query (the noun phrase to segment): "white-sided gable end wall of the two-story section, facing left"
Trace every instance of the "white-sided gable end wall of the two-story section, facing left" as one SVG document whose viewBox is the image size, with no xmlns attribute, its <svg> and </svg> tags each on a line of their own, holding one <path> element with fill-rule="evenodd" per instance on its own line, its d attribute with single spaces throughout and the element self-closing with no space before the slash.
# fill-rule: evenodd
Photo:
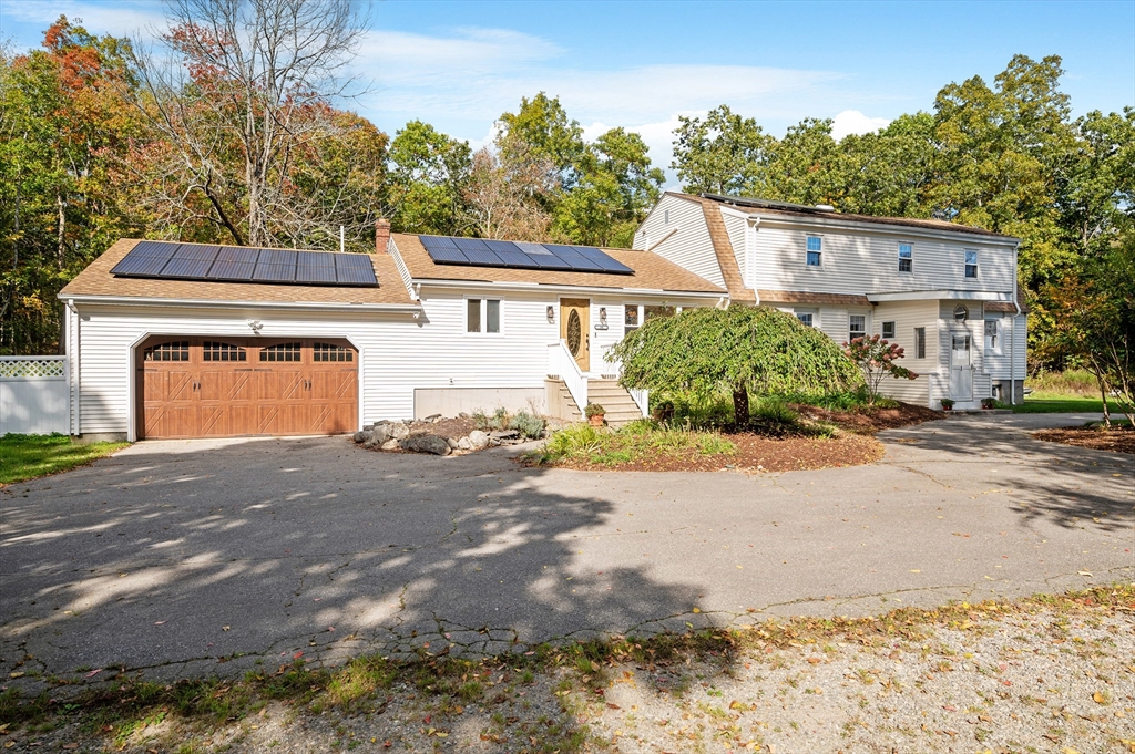
<svg viewBox="0 0 1135 754">
<path fill-rule="evenodd" d="M 670 212 L 670 223 L 665 222 L 666 212 Z M 647 248 L 648 242 L 656 244 L 674 228 L 678 231 L 655 246 L 654 253 L 724 288 L 725 279 L 713 251 L 705 213 L 696 202 L 663 196 L 634 232 L 634 248 Z"/>
</svg>

